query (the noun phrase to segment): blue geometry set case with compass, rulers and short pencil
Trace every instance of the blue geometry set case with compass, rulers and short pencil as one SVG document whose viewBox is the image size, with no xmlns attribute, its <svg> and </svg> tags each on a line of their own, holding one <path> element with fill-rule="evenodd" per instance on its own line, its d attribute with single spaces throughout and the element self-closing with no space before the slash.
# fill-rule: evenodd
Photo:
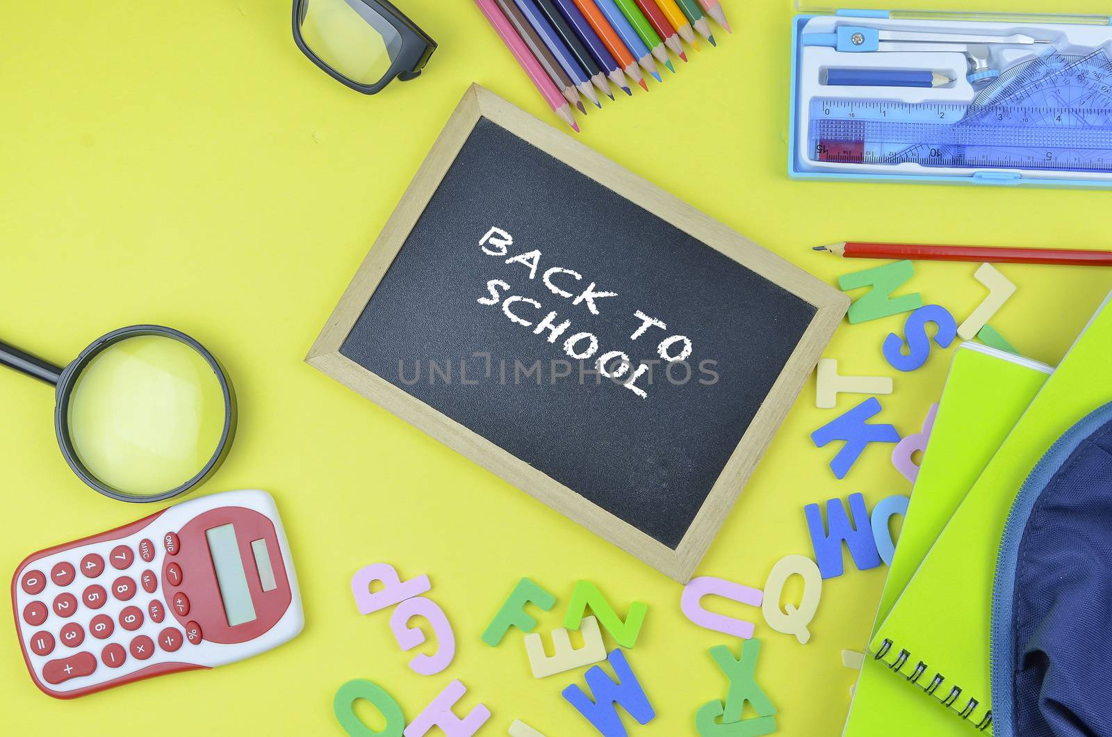
<svg viewBox="0 0 1112 737">
<path fill-rule="evenodd" d="M 798 179 L 1112 187 L 1106 16 L 795 17 Z"/>
</svg>

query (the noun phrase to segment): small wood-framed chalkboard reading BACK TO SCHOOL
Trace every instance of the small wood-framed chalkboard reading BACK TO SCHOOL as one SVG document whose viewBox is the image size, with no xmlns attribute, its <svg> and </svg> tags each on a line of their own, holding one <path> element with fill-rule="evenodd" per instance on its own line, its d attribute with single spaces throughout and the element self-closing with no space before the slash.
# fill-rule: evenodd
<svg viewBox="0 0 1112 737">
<path fill-rule="evenodd" d="M 847 307 L 473 86 L 307 361 L 686 581 Z"/>
</svg>

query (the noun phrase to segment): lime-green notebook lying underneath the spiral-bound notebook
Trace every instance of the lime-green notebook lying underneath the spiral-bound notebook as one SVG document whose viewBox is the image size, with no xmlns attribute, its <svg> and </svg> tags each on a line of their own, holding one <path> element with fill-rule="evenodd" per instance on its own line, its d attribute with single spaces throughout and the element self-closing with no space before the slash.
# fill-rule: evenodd
<svg viewBox="0 0 1112 737">
<path fill-rule="evenodd" d="M 874 633 L 1051 371 L 980 343 L 957 346 L 881 594 Z M 936 737 L 963 729 L 900 680 L 885 664 L 866 657 L 843 737 Z"/>
</svg>

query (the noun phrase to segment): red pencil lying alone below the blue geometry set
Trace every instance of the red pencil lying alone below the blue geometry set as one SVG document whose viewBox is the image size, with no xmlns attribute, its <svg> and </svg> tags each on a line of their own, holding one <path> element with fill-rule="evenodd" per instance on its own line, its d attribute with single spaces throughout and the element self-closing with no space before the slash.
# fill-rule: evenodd
<svg viewBox="0 0 1112 737">
<path fill-rule="evenodd" d="M 1061 248 L 1012 248 L 1007 246 L 920 246 L 909 243 L 836 243 L 815 246 L 843 258 L 903 261 L 969 261 L 993 264 L 1058 264 L 1062 266 L 1112 266 L 1112 250 Z"/>
</svg>

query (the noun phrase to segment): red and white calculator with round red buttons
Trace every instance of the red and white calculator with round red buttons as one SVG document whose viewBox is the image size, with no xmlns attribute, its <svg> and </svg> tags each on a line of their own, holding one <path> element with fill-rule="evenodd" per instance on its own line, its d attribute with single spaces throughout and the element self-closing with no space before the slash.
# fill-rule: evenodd
<svg viewBox="0 0 1112 737">
<path fill-rule="evenodd" d="M 305 625 L 278 509 L 258 490 L 32 553 L 11 597 L 31 679 L 56 698 L 242 660 Z"/>
</svg>

